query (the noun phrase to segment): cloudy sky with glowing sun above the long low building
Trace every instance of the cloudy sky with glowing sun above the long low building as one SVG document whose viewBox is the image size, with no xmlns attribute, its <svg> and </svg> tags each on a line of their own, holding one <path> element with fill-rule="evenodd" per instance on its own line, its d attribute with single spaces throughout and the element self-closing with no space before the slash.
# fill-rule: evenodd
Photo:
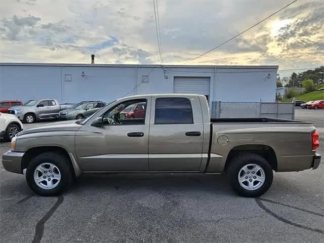
<svg viewBox="0 0 324 243">
<path fill-rule="evenodd" d="M 0 0 L 0 62 L 160 64 L 152 0 Z M 158 0 L 165 64 L 184 64 L 292 0 Z M 324 64 L 324 1 L 298 0 L 188 64 Z"/>
</svg>

